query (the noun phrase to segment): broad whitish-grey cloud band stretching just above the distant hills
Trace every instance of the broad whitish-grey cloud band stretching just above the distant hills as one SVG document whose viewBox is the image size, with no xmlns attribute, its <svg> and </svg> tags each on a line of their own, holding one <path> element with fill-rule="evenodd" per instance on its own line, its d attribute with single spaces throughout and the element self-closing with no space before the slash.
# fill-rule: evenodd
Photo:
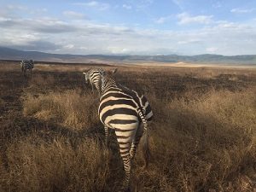
<svg viewBox="0 0 256 192">
<path fill-rule="evenodd" d="M 0 18 L 0 45 L 51 53 L 167 55 L 255 54 L 255 21 L 212 21 L 194 30 L 154 30 L 94 23 Z"/>
</svg>

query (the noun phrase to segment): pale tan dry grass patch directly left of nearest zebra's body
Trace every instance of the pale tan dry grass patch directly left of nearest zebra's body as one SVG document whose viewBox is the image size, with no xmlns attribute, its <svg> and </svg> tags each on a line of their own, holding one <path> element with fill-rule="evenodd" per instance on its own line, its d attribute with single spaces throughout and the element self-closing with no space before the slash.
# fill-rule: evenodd
<svg viewBox="0 0 256 192">
<path fill-rule="evenodd" d="M 93 95 L 83 95 L 81 90 L 49 92 L 23 97 L 23 113 L 44 121 L 53 120 L 73 130 L 87 129 L 96 125 L 97 102 Z"/>
</svg>

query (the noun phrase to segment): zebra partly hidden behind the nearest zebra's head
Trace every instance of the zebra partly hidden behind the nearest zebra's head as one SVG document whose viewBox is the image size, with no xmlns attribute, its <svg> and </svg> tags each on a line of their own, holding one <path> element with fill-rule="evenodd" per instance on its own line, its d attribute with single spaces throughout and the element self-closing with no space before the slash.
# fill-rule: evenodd
<svg viewBox="0 0 256 192">
<path fill-rule="evenodd" d="M 93 92 L 94 86 L 96 90 L 100 90 L 99 88 L 99 79 L 101 75 L 105 75 L 105 71 L 102 68 L 90 69 L 88 72 L 84 72 L 85 83 L 90 83 L 91 90 Z"/>
</svg>

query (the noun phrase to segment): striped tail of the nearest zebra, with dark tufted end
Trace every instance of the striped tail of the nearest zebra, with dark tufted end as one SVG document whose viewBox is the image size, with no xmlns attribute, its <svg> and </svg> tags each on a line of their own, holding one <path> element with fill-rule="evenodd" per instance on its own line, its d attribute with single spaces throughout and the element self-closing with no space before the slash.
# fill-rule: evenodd
<svg viewBox="0 0 256 192">
<path fill-rule="evenodd" d="M 141 139 L 141 142 L 143 144 L 143 158 L 144 158 L 143 168 L 146 169 L 148 167 L 148 160 L 151 156 L 149 145 L 148 145 L 148 122 L 142 110 L 139 110 L 139 116 L 143 121 L 143 137 Z"/>
</svg>

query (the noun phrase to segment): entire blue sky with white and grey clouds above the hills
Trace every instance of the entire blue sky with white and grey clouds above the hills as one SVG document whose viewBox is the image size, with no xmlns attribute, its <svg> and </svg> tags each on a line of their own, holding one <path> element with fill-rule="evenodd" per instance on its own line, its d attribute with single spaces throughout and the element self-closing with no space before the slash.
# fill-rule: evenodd
<svg viewBox="0 0 256 192">
<path fill-rule="evenodd" d="M 0 46 L 105 55 L 256 54 L 254 0 L 0 0 Z"/>
</svg>

